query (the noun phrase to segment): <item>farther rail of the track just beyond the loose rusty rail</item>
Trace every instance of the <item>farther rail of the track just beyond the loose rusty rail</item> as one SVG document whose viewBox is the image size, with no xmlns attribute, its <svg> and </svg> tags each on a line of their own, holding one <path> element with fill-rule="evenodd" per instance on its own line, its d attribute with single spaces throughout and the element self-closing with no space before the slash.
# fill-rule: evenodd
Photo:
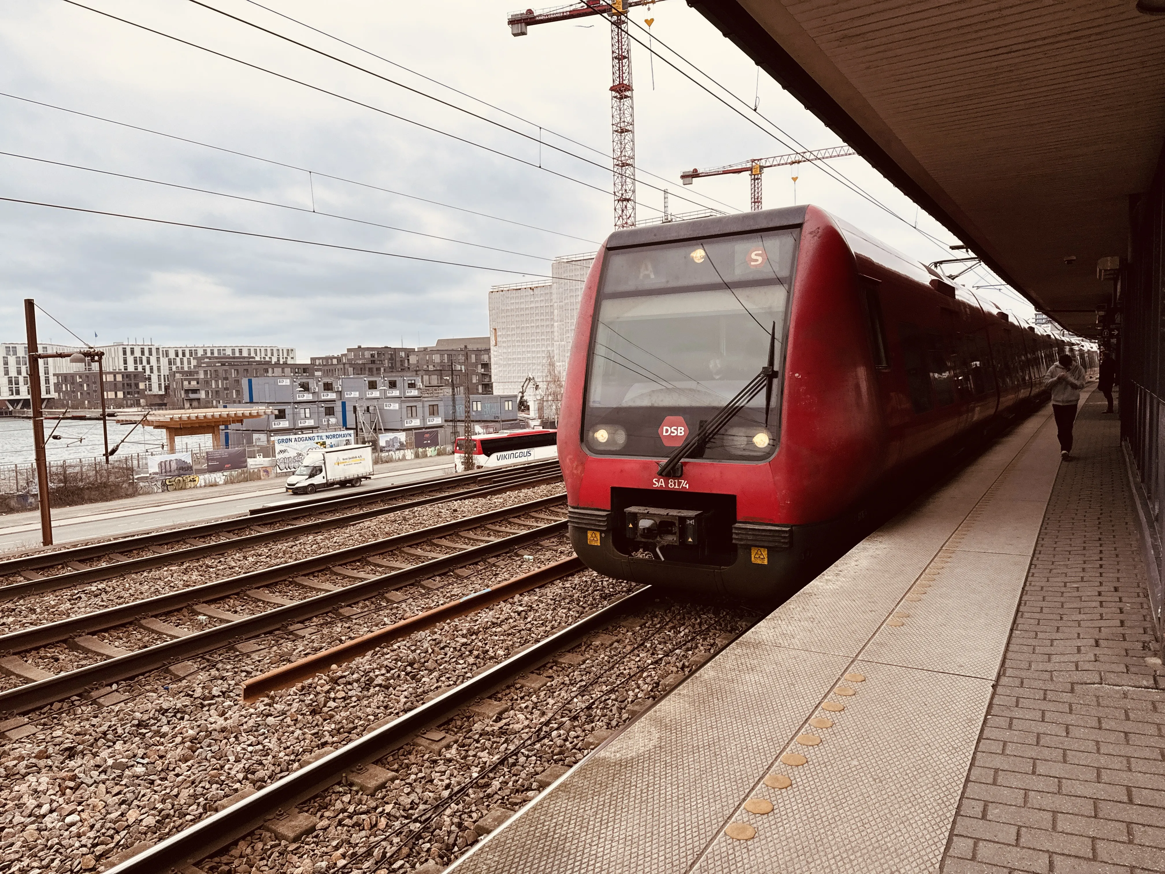
<svg viewBox="0 0 1165 874">
<path fill-rule="evenodd" d="M 82 634 L 89 634 L 91 632 L 99 632 L 105 628 L 126 625 L 127 622 L 133 622 L 134 620 L 142 619 L 144 616 L 156 616 L 161 613 L 182 609 L 183 607 L 189 607 L 191 604 L 202 604 L 204 601 L 225 598 L 250 588 L 257 588 L 260 586 L 270 585 L 271 583 L 289 579 L 290 577 L 313 573 L 316 571 L 334 568 L 337 565 L 344 565 L 348 562 L 363 558 L 365 556 L 379 555 L 381 552 L 388 552 L 402 547 L 411 547 L 414 543 L 423 543 L 425 541 L 431 541 L 435 537 L 443 537 L 445 535 L 457 534 L 458 531 L 469 528 L 479 528 L 480 526 L 502 519 L 511 519 L 527 513 L 534 513 L 545 507 L 562 503 L 563 500 L 564 495 L 562 494 L 550 495 L 549 498 L 539 498 L 535 501 L 520 503 L 517 507 L 503 507 L 502 509 L 489 510 L 488 513 L 481 513 L 476 516 L 456 519 L 452 522 L 445 522 L 439 526 L 419 528 L 415 531 L 405 531 L 404 534 L 395 534 L 391 537 L 382 537 L 381 540 L 372 541 L 369 543 L 360 543 L 355 547 L 345 547 L 344 549 L 338 549 L 333 552 L 325 552 L 324 555 L 311 556 L 310 558 L 299 558 L 294 562 L 277 564 L 274 568 L 248 571 L 247 573 L 226 577 L 225 579 L 214 580 L 213 583 L 204 583 L 200 586 L 179 588 L 174 592 L 167 592 L 165 594 L 157 594 L 153 598 L 143 598 L 137 601 L 130 601 L 129 604 L 122 604 L 115 607 L 107 607 L 106 609 L 96 611 L 93 613 L 70 616 L 69 619 L 59 619 L 56 622 L 38 625 L 19 632 L 9 632 L 8 634 L 0 635 L 0 653 L 21 653 L 27 649 L 34 649 L 36 647 L 48 646 L 49 643 L 69 640 L 70 637 L 76 637 Z M 566 524 L 566 522 L 556 522 L 552 523 L 552 526 L 553 524 Z M 501 543 L 502 541 L 499 540 L 494 542 Z M 490 544 L 488 543 L 482 544 L 482 548 L 489 545 Z M 453 552 L 452 555 L 467 555 L 472 552 L 473 549 Z M 431 564 L 433 564 L 433 562 L 426 562 L 414 566 L 424 568 Z M 376 579 L 380 579 L 380 577 Z M 360 585 L 361 584 L 359 583 L 354 583 L 337 591 L 348 592 L 358 588 Z"/>
</svg>

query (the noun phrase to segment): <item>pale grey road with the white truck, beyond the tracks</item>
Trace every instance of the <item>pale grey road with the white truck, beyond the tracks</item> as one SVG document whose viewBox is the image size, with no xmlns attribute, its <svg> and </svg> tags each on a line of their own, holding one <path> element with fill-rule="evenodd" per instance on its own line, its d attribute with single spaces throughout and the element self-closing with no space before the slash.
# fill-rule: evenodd
<svg viewBox="0 0 1165 874">
<path fill-rule="evenodd" d="M 336 493 L 351 495 L 368 488 L 418 482 L 452 473 L 453 461 L 446 461 L 440 457 L 395 461 L 377 465 L 377 472 L 367 482 L 355 488 L 336 489 Z M 193 488 L 189 492 L 137 495 L 120 501 L 54 510 L 52 537 L 57 544 L 120 537 L 191 522 L 238 516 L 266 503 L 296 503 L 302 500 L 311 500 L 311 496 L 287 493 L 282 479 Z M 0 555 L 35 549 L 40 545 L 41 523 L 40 515 L 35 510 L 0 515 Z"/>
</svg>

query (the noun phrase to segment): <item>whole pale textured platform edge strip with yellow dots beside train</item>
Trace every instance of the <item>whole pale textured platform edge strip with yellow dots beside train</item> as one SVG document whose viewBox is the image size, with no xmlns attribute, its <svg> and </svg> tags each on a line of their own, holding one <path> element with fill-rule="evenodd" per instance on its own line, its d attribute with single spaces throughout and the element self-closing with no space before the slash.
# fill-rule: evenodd
<svg viewBox="0 0 1165 874">
<path fill-rule="evenodd" d="M 1031 459 L 1059 460 L 1048 423 L 1024 423 L 859 544 L 461 859 L 458 874 L 937 871 L 990 697 L 980 675 L 994 678 L 1026 569 L 1023 541 L 998 528 L 1016 520 L 996 507 L 1026 503 L 1038 531 L 1054 473 Z M 1017 493 L 1017 474 L 1035 486 Z M 967 549 L 976 535 L 982 552 Z M 982 628 L 951 620 L 984 597 L 967 585 L 980 573 L 1002 586 L 990 620 L 1002 627 L 972 641 Z M 867 644 L 880 658 L 854 662 Z M 951 654 L 963 648 L 956 663 Z M 867 675 L 860 686 L 839 681 L 855 672 Z M 825 718 L 828 728 L 809 723 Z M 785 753 L 791 764 L 769 767 Z M 792 785 L 764 787 L 770 771 Z M 750 798 L 774 811 L 743 809 Z"/>
</svg>

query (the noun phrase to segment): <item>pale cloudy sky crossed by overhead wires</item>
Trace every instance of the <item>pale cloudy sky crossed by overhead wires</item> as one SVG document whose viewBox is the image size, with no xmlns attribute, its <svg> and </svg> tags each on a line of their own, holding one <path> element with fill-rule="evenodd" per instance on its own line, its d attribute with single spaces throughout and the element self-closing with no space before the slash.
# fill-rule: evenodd
<svg viewBox="0 0 1165 874">
<path fill-rule="evenodd" d="M 549 259 L 591 251 L 610 231 L 601 19 L 514 38 L 511 3 L 499 0 L 82 2 L 91 8 L 0 6 L 0 197 L 464 266 L 5 200 L 0 340 L 23 337 L 24 297 L 98 343 L 277 344 L 302 360 L 356 344 L 480 336 L 489 286 L 548 274 Z M 640 218 L 658 214 L 664 188 L 672 212 L 748 209 L 744 176 L 685 188 L 684 169 L 784 154 L 788 142 L 841 145 L 683 0 L 633 17 L 654 20 L 657 52 L 633 49 Z M 912 225 L 955 242 L 949 233 L 862 158 L 833 167 L 899 218 L 811 165 L 799 169 L 797 202 L 920 261 L 949 256 Z M 793 202 L 790 176 L 765 174 L 765 206 Z M 967 279 L 996 281 L 986 270 Z M 1014 296 L 997 299 L 1031 312 Z M 41 337 L 71 339 L 47 320 Z"/>
</svg>

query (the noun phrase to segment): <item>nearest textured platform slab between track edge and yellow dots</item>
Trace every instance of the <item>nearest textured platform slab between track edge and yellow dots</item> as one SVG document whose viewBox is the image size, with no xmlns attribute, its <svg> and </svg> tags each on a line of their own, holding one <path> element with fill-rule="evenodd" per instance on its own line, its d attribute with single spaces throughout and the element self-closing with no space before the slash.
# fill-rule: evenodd
<svg viewBox="0 0 1165 874">
<path fill-rule="evenodd" d="M 849 660 L 737 641 L 458 871 L 683 872 Z M 779 690 L 779 695 L 775 695 Z M 693 729 L 698 726 L 698 731 Z M 675 745 L 682 743 L 682 761 Z M 501 840 L 499 840 L 501 838 Z"/>
</svg>

